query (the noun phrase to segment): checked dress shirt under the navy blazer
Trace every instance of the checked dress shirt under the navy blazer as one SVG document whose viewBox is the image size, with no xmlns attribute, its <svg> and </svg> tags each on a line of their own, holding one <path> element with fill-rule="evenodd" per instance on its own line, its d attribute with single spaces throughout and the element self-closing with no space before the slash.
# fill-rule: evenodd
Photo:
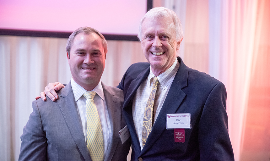
<svg viewBox="0 0 270 161">
<path fill-rule="evenodd" d="M 176 75 L 176 72 L 178 71 L 179 66 L 180 63 L 176 59 L 174 64 L 172 64 L 172 66 L 170 66 L 169 69 L 167 69 L 164 73 L 157 76 L 159 83 L 154 101 L 154 112 L 153 112 L 154 123 L 159 115 L 159 111 L 161 110 L 162 105 L 166 99 L 166 96 L 170 90 L 170 86 Z M 152 69 L 150 67 L 148 79 L 142 82 L 142 84 L 137 89 L 132 104 L 132 116 L 137 136 L 140 141 L 141 149 L 143 149 L 142 128 L 143 128 L 144 109 L 146 107 L 146 103 L 152 90 L 154 76 L 155 75 L 153 74 Z"/>
</svg>

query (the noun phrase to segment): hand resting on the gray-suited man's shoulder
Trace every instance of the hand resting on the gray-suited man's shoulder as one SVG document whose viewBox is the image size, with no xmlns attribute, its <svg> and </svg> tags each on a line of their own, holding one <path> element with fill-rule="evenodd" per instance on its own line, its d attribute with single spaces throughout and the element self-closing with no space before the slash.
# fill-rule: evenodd
<svg viewBox="0 0 270 161">
<path fill-rule="evenodd" d="M 44 92 L 40 93 L 40 96 L 35 97 L 35 99 L 41 99 L 43 101 L 46 100 L 46 95 L 52 100 L 55 101 L 58 98 L 58 95 L 55 91 L 59 91 L 60 89 L 64 88 L 65 86 L 59 82 L 49 83 L 48 86 L 45 87 Z"/>
</svg>

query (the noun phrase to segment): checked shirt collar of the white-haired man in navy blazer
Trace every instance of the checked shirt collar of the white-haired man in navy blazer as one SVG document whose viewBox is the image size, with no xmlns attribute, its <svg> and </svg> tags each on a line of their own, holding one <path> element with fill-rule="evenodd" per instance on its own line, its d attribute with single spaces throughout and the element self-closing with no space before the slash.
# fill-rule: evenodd
<svg viewBox="0 0 270 161">
<path fill-rule="evenodd" d="M 180 63 L 178 62 L 177 58 L 176 60 L 174 61 L 174 63 L 170 66 L 169 69 L 167 69 L 164 73 L 161 73 L 159 76 L 157 76 L 158 80 L 159 80 L 159 84 L 161 85 L 161 87 L 163 88 L 163 90 L 166 89 L 166 87 L 170 84 L 170 78 L 171 77 L 175 77 L 176 75 L 176 72 L 178 70 L 180 66 Z M 147 82 L 150 83 L 149 86 L 151 86 L 151 83 L 153 82 L 153 77 L 155 75 L 153 74 L 152 72 L 152 69 L 151 69 L 151 66 L 150 66 L 150 73 L 148 75 L 148 80 Z"/>
</svg>

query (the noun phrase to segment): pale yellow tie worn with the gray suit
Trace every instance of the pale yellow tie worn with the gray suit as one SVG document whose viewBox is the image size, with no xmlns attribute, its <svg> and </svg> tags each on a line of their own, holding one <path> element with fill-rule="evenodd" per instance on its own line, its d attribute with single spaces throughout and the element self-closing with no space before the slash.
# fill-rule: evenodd
<svg viewBox="0 0 270 161">
<path fill-rule="evenodd" d="M 103 133 L 97 107 L 94 103 L 96 92 L 87 91 L 84 93 L 86 100 L 87 117 L 87 148 L 92 161 L 104 159 Z"/>
</svg>

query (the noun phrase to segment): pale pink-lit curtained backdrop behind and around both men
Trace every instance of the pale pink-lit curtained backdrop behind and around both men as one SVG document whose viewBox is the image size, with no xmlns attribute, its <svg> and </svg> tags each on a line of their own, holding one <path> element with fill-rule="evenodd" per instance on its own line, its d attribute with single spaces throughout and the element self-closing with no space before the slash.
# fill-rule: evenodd
<svg viewBox="0 0 270 161">
<path fill-rule="evenodd" d="M 180 17 L 184 39 L 178 55 L 185 64 L 225 84 L 235 160 L 269 160 L 270 1 L 154 0 L 153 5 Z M 1 160 L 18 160 L 19 137 L 34 98 L 49 82 L 70 80 L 66 41 L 0 36 Z M 146 61 L 137 41 L 108 40 L 108 50 L 101 79 L 110 86 L 118 84 L 130 64 Z"/>
</svg>

